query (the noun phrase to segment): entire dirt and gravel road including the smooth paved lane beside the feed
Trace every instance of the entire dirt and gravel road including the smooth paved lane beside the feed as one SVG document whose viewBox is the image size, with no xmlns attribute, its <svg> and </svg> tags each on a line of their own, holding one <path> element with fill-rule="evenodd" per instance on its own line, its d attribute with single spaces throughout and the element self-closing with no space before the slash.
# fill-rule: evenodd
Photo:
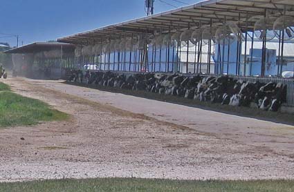
<svg viewBox="0 0 294 192">
<path fill-rule="evenodd" d="M 0 130 L 0 181 L 294 179 L 293 126 L 59 81 L 17 78 L 6 83 L 72 118 Z"/>
</svg>

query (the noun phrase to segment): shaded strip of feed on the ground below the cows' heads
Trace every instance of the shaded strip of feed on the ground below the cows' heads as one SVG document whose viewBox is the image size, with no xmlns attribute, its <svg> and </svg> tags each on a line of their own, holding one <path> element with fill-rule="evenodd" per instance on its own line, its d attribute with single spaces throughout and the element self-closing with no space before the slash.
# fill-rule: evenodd
<svg viewBox="0 0 294 192">
<path fill-rule="evenodd" d="M 294 124 L 293 114 L 290 113 L 281 113 L 281 112 L 272 112 L 272 111 L 262 111 L 255 108 L 249 107 L 234 107 L 221 104 L 212 104 L 210 102 L 200 102 L 199 100 L 194 99 L 185 99 L 183 97 L 176 97 L 172 95 L 160 95 L 158 93 L 150 93 L 145 90 L 125 90 L 120 88 L 111 88 L 106 86 L 98 85 L 85 85 L 79 83 L 66 82 L 66 84 L 72 84 L 77 86 L 85 86 L 89 88 L 96 88 L 99 90 L 109 91 L 113 93 L 122 93 L 125 95 L 133 95 L 136 97 L 143 97 L 147 99 L 155 99 L 162 102 L 170 102 L 173 104 L 181 104 L 185 106 L 192 106 L 196 108 L 203 108 L 205 110 L 217 111 L 221 113 L 228 113 L 232 115 L 239 115 L 244 117 L 252 117 L 256 119 L 263 119 L 270 122 L 281 122 L 286 124 Z"/>
</svg>

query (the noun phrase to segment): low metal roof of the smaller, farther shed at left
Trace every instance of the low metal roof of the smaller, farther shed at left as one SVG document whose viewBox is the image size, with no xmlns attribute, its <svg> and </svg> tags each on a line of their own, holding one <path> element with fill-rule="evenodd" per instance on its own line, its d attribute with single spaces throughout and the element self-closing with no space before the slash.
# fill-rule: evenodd
<svg viewBox="0 0 294 192">
<path fill-rule="evenodd" d="M 12 48 L 10 50 L 6 50 L 5 53 L 33 53 L 46 50 L 60 49 L 61 47 L 64 51 L 74 51 L 75 49 L 75 45 L 73 44 L 66 44 L 60 42 L 35 42 L 33 44 L 28 44 L 25 46 L 21 46 L 19 48 Z"/>
</svg>

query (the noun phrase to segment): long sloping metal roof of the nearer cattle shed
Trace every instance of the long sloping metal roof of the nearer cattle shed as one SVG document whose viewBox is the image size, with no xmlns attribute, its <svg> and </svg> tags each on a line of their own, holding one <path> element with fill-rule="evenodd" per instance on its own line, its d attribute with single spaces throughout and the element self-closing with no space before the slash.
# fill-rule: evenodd
<svg viewBox="0 0 294 192">
<path fill-rule="evenodd" d="M 95 30 L 77 33 L 57 39 L 60 42 L 73 44 L 93 44 L 107 39 L 131 37 L 134 34 L 168 32 L 197 28 L 210 23 L 224 23 L 235 21 L 241 30 L 252 30 L 253 23 L 247 23 L 254 16 L 294 15 L 293 0 L 208 0 L 185 6 L 175 10 L 162 12 L 156 15 L 134 19 L 122 23 L 105 26 Z"/>
</svg>

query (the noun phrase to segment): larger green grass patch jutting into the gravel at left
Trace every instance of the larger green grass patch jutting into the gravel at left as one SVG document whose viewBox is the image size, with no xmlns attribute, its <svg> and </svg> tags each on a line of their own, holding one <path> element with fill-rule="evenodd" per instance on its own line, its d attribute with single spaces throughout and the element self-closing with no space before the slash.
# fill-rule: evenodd
<svg viewBox="0 0 294 192">
<path fill-rule="evenodd" d="M 68 115 L 50 108 L 37 99 L 22 97 L 12 92 L 0 92 L 0 128 L 29 126 L 42 121 L 65 120 Z"/>
</svg>

